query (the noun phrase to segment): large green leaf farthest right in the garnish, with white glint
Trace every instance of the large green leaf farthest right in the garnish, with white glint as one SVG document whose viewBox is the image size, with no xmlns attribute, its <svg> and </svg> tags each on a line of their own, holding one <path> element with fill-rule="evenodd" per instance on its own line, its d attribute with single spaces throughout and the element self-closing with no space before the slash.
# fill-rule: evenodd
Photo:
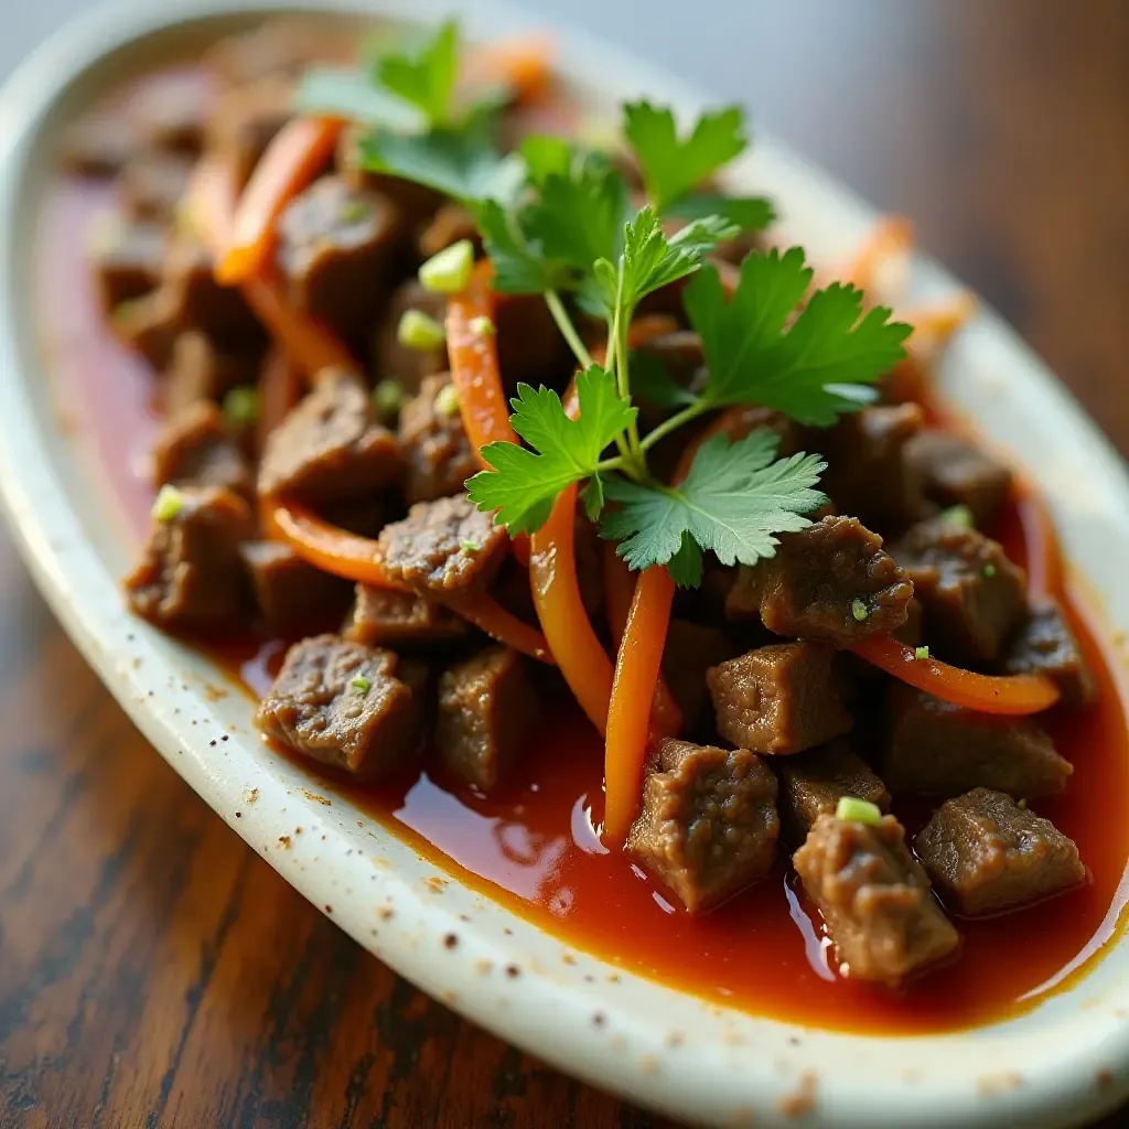
<svg viewBox="0 0 1129 1129">
<path fill-rule="evenodd" d="M 761 404 L 829 427 L 873 400 L 865 386 L 905 356 L 910 326 L 881 306 L 864 315 L 861 291 L 835 282 L 812 295 L 789 327 L 811 281 L 804 252 L 793 247 L 749 255 L 732 300 L 712 268 L 690 282 L 683 303 L 709 365 L 708 405 Z"/>
</svg>

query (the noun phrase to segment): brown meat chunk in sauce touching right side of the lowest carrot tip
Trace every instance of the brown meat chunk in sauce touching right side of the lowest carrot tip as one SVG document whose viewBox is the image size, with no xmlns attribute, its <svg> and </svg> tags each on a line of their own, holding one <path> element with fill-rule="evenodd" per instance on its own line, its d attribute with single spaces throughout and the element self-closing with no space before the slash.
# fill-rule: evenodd
<svg viewBox="0 0 1129 1129">
<path fill-rule="evenodd" d="M 691 913 L 704 913 L 768 874 L 776 798 L 776 777 L 747 749 L 664 741 L 627 852 Z"/>
</svg>

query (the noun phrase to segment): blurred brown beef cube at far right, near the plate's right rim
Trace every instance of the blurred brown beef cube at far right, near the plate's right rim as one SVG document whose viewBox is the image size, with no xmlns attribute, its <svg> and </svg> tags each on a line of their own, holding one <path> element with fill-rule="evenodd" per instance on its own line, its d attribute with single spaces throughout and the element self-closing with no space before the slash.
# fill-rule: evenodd
<svg viewBox="0 0 1129 1129">
<path fill-rule="evenodd" d="M 990 528 L 1012 489 L 1012 472 L 975 444 L 926 430 L 905 445 L 905 457 L 926 498 L 938 506 L 968 506 L 979 528 Z"/>
</svg>

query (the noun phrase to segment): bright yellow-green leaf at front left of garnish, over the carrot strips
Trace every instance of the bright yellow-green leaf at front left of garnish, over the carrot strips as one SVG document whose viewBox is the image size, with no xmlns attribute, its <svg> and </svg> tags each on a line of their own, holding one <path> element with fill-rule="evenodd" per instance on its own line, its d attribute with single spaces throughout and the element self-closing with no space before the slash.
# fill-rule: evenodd
<svg viewBox="0 0 1129 1129">
<path fill-rule="evenodd" d="M 482 456 L 491 470 L 466 483 L 471 501 L 479 509 L 498 510 L 495 520 L 511 532 L 540 530 L 561 490 L 592 476 L 604 448 L 634 420 L 636 409 L 620 396 L 615 377 L 598 365 L 577 376 L 576 388 L 580 414 L 574 420 L 555 392 L 519 384 L 510 422 L 534 450 L 487 444 Z M 595 508 L 597 499 L 602 504 L 601 487 L 589 487 L 586 505 Z"/>
</svg>

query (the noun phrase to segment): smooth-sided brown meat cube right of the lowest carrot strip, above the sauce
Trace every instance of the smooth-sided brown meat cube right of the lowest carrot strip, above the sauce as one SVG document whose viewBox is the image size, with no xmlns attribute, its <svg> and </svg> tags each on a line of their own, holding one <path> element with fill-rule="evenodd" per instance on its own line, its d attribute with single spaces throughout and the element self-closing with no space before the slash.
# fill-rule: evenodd
<svg viewBox="0 0 1129 1129">
<path fill-rule="evenodd" d="M 816 642 L 758 647 L 706 675 L 717 732 L 735 745 L 773 755 L 814 749 L 849 733 L 846 680 L 832 648 Z"/>
</svg>

